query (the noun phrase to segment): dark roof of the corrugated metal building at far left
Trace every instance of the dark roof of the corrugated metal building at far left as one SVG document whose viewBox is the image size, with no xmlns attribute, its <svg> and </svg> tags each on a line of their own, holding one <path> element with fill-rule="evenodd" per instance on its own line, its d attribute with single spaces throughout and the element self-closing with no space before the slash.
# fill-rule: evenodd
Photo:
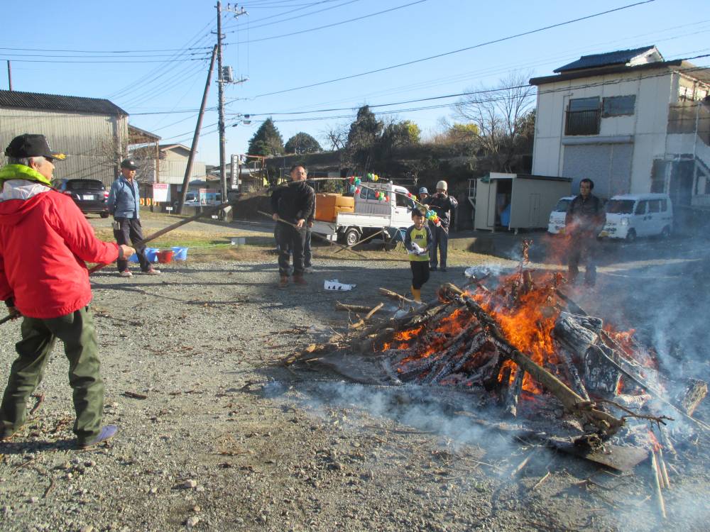
<svg viewBox="0 0 710 532">
<path fill-rule="evenodd" d="M 45 111 L 71 111 L 88 114 L 128 116 L 116 104 L 101 98 L 84 96 L 61 96 L 40 92 L 0 91 L 0 108 L 42 109 Z"/>
</svg>

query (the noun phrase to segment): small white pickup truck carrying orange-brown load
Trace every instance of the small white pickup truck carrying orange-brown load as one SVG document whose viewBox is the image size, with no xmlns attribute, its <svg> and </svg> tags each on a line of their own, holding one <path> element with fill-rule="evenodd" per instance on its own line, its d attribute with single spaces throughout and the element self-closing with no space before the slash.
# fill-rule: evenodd
<svg viewBox="0 0 710 532">
<path fill-rule="evenodd" d="M 376 192 L 384 192 L 386 200 L 377 199 Z M 398 194 L 396 194 L 398 193 Z M 313 221 L 314 233 L 324 235 L 328 240 L 338 240 L 345 245 L 353 245 L 362 238 L 367 238 L 385 230 L 383 239 L 391 236 L 392 229 L 406 229 L 412 225 L 412 207 L 414 202 L 408 197 L 409 191 L 392 183 L 367 183 L 354 198 L 354 212 L 338 212 L 334 221 L 316 219 Z M 318 212 L 316 199 L 316 212 Z"/>
</svg>

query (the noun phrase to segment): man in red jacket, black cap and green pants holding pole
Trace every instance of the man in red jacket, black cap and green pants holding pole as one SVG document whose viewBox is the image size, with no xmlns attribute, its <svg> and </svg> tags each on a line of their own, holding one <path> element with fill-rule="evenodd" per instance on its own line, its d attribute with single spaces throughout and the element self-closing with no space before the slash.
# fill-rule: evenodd
<svg viewBox="0 0 710 532">
<path fill-rule="evenodd" d="M 85 262 L 113 262 L 133 248 L 98 240 L 70 196 L 50 187 L 54 161 L 66 156 L 53 152 L 44 135 L 13 138 L 5 155 L 10 164 L 0 169 L 0 300 L 24 319 L 0 405 L 0 440 L 25 423 L 26 401 L 59 338 L 69 359 L 74 433 L 79 447 L 87 448 L 118 429 L 101 424 L 104 384 Z"/>
</svg>

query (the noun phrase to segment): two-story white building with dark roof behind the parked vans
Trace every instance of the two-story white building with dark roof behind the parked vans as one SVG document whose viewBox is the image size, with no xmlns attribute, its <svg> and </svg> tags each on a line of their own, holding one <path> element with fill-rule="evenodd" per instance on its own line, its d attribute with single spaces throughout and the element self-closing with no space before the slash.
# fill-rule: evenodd
<svg viewBox="0 0 710 532">
<path fill-rule="evenodd" d="M 655 46 L 585 55 L 537 86 L 532 173 L 595 194 L 667 192 L 710 207 L 710 69 Z"/>
</svg>

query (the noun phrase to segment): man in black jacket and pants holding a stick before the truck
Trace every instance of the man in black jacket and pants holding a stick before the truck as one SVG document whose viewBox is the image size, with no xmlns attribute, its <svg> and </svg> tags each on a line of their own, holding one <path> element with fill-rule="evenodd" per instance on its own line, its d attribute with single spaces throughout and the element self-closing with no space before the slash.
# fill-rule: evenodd
<svg viewBox="0 0 710 532">
<path fill-rule="evenodd" d="M 303 278 L 303 248 L 306 223 L 315 209 L 315 192 L 305 183 L 306 169 L 300 165 L 291 168 L 293 182 L 278 187 L 271 194 L 271 209 L 276 221 L 278 242 L 278 286 L 288 286 L 289 254 L 293 253 L 293 282 L 307 284 Z M 293 224 L 293 225 L 291 225 Z"/>
</svg>

